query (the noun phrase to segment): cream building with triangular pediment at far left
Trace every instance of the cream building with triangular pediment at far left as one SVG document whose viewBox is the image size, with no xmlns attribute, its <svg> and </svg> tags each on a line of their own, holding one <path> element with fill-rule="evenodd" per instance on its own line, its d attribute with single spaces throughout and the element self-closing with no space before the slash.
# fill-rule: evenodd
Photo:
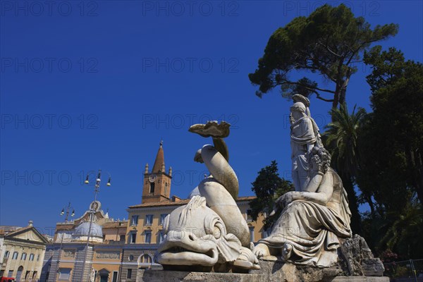
<svg viewBox="0 0 423 282">
<path fill-rule="evenodd" d="M 25 228 L 0 226 L 0 277 L 37 281 L 47 243 L 32 221 Z"/>
</svg>

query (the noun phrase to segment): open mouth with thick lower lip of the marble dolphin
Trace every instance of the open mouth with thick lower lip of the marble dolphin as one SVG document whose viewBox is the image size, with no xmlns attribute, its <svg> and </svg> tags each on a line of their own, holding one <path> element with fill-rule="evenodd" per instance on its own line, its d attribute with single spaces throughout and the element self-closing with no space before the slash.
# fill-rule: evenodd
<svg viewBox="0 0 423 282">
<path fill-rule="evenodd" d="M 197 252 L 185 247 L 170 247 L 159 252 L 157 262 L 168 265 L 202 265 L 213 266 L 216 264 L 219 254 L 216 247 L 212 247 L 206 252 Z"/>
</svg>

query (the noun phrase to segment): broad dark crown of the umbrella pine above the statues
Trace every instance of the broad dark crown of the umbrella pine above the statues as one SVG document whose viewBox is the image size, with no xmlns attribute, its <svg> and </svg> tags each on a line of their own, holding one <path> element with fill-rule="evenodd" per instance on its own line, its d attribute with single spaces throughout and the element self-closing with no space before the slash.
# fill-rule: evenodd
<svg viewBox="0 0 423 282">
<path fill-rule="evenodd" d="M 308 97 L 316 94 L 318 99 L 338 103 L 345 102 L 345 94 L 360 62 L 360 54 L 372 42 L 378 42 L 396 35 L 398 25 L 376 25 L 370 27 L 362 17 L 354 17 L 347 6 L 337 7 L 325 4 L 309 17 L 294 18 L 285 27 L 280 27 L 264 49 L 255 73 L 250 73 L 250 81 L 259 85 L 257 96 L 262 97 L 274 87 L 281 87 L 284 97 L 300 93 Z M 291 80 L 293 71 L 305 71 L 322 75 L 332 88 L 319 87 L 309 78 Z M 327 84 L 327 83 L 325 83 Z M 329 94 L 324 98 L 321 94 Z"/>
</svg>

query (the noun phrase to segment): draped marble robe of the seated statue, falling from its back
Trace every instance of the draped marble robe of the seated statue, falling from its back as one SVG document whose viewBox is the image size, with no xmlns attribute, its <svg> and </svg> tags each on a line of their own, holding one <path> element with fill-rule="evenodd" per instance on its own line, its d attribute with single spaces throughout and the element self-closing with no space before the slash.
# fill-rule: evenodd
<svg viewBox="0 0 423 282">
<path fill-rule="evenodd" d="M 341 178 L 331 168 L 326 173 L 333 181 L 333 194 L 326 206 L 304 200 L 291 202 L 283 209 L 269 237 L 258 243 L 272 248 L 290 243 L 293 246 L 290 260 L 295 264 L 324 267 L 337 261 L 338 237 L 352 235 L 351 212 Z"/>
</svg>

